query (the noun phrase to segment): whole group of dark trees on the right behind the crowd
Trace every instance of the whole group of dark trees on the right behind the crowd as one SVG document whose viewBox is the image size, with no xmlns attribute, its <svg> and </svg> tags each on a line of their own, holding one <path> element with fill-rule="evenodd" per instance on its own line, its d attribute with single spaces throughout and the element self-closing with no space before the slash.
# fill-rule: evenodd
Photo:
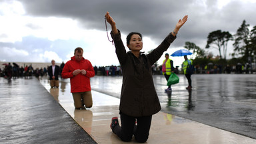
<svg viewBox="0 0 256 144">
<path fill-rule="evenodd" d="M 256 55 L 256 25 L 249 30 L 249 24 L 244 20 L 237 29 L 237 33 L 231 35 L 229 31 L 212 31 L 207 37 L 205 49 L 217 49 L 219 57 L 213 59 L 213 53 L 207 53 L 193 42 L 185 42 L 185 48 L 193 51 L 195 65 L 207 65 L 207 63 L 221 63 L 223 65 L 237 65 L 237 63 L 255 62 Z M 227 60 L 227 45 L 233 41 L 232 59 Z"/>
</svg>

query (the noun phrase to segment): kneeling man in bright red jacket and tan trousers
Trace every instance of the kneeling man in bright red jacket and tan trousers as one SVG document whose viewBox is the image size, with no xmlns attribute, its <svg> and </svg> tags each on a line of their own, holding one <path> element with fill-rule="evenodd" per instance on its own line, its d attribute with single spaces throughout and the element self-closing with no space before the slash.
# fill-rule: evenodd
<svg viewBox="0 0 256 144">
<path fill-rule="evenodd" d="M 75 55 L 67 61 L 61 73 L 64 79 L 70 78 L 75 109 L 85 109 L 85 107 L 93 106 L 90 77 L 94 77 L 94 75 L 95 72 L 91 62 L 83 58 L 83 49 L 77 47 Z"/>
</svg>

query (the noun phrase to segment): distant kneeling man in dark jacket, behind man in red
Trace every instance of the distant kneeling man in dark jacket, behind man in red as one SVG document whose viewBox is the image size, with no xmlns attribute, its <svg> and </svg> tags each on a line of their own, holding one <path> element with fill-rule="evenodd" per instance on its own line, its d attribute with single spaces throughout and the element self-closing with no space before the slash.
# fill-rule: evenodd
<svg viewBox="0 0 256 144">
<path fill-rule="evenodd" d="M 51 66 L 48 68 L 51 88 L 59 88 L 59 65 L 55 65 L 55 60 L 51 60 Z"/>
</svg>

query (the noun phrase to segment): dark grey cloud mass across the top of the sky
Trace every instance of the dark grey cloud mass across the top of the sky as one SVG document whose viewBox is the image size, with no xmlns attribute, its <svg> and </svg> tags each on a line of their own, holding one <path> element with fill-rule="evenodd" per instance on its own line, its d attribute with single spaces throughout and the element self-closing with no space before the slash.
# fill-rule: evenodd
<svg viewBox="0 0 256 144">
<path fill-rule="evenodd" d="M 235 33 L 245 19 L 254 26 L 256 20 L 255 3 L 246 5 L 234 0 L 221 9 L 217 1 L 181 0 L 181 1 L 84 1 L 84 0 L 22 0 L 27 15 L 40 17 L 70 17 L 77 19 L 87 29 L 105 30 L 104 15 L 109 11 L 122 33 L 139 31 L 144 37 L 151 37 L 157 43 L 173 31 L 178 19 L 189 15 L 187 23 L 179 31 L 178 39 L 173 43 L 183 47 L 185 41 L 191 41 L 205 47 L 207 35 L 221 29 Z M 111 28 L 108 25 L 109 29 Z"/>
</svg>

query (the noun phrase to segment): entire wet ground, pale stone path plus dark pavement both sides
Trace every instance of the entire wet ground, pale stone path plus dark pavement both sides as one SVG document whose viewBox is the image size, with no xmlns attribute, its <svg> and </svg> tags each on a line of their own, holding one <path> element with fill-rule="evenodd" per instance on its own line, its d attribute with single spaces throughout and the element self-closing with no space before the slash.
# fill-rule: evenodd
<svg viewBox="0 0 256 144">
<path fill-rule="evenodd" d="M 193 75 L 192 91 L 179 78 L 165 93 L 165 78 L 153 75 L 162 111 L 147 143 L 256 143 L 255 75 Z M 51 89 L 47 77 L 0 78 L 0 143 L 123 143 L 109 128 L 121 83 L 121 76 L 91 78 L 93 107 L 75 110 L 69 79 Z"/>
</svg>

